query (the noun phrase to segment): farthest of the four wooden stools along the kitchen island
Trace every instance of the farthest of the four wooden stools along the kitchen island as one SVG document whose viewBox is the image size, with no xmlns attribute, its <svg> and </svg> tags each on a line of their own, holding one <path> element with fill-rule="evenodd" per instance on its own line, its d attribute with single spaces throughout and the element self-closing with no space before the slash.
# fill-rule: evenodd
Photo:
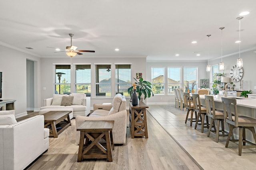
<svg viewBox="0 0 256 170">
<path fill-rule="evenodd" d="M 195 118 L 193 118 L 193 113 L 194 113 L 194 104 L 190 98 L 190 93 L 188 92 L 183 92 L 184 95 L 184 102 L 185 102 L 185 107 L 188 109 L 187 115 L 186 115 L 186 120 L 185 123 L 187 123 L 187 121 L 190 121 L 190 126 L 192 126 L 192 122 L 196 122 L 197 119 L 197 113 L 195 112 Z M 190 118 L 188 118 L 188 115 L 190 113 Z"/>
</svg>

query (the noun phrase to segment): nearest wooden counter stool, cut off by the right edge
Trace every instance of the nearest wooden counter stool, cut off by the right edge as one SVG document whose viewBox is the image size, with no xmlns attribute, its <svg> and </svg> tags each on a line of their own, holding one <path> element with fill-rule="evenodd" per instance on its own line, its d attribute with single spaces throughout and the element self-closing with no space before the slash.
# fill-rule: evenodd
<svg viewBox="0 0 256 170">
<path fill-rule="evenodd" d="M 247 141 L 245 135 L 245 129 L 248 129 L 252 132 L 254 142 L 256 142 L 256 133 L 254 127 L 256 127 L 256 119 L 248 116 L 240 116 L 238 115 L 236 108 L 236 99 L 231 98 L 221 98 L 223 109 L 224 109 L 224 117 L 225 121 L 230 125 L 230 131 L 228 133 L 228 139 L 226 142 L 226 148 L 228 147 L 229 141 L 238 142 L 238 155 L 241 156 L 242 148 L 256 148 L 256 144 Z M 233 130 L 238 127 L 239 134 L 238 140 L 234 139 Z M 230 140 L 230 137 L 232 139 Z M 246 145 L 248 143 L 249 145 Z"/>
</svg>

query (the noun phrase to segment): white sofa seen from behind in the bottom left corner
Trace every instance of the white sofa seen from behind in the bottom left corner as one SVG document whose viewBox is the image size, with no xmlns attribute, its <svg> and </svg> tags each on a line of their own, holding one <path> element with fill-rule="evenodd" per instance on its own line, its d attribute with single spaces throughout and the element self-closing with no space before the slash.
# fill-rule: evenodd
<svg viewBox="0 0 256 170">
<path fill-rule="evenodd" d="M 0 111 L 0 115 L 11 114 L 15 115 L 15 111 Z M 43 115 L 0 124 L 1 170 L 23 170 L 49 148 L 49 129 L 44 128 Z"/>
</svg>

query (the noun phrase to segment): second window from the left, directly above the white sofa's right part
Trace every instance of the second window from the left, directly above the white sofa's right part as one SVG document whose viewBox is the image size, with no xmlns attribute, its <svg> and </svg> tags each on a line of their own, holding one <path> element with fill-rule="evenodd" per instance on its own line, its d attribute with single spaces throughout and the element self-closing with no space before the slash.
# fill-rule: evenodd
<svg viewBox="0 0 256 170">
<path fill-rule="evenodd" d="M 75 68 L 75 93 L 83 93 L 86 96 L 91 96 L 91 65 L 75 65 Z"/>
</svg>

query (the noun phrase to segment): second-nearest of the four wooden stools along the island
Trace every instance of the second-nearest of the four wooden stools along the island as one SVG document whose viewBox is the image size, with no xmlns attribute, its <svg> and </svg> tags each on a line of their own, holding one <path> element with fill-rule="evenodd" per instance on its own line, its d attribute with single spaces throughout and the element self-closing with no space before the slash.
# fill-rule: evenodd
<svg viewBox="0 0 256 170">
<path fill-rule="evenodd" d="M 224 130 L 224 113 L 223 111 L 218 111 L 215 109 L 214 98 L 212 95 L 204 95 L 204 98 L 206 103 L 207 116 L 211 118 L 207 137 L 210 137 L 211 132 L 216 133 L 215 142 L 218 143 L 220 136 L 222 137 L 228 136 L 227 132 Z M 217 122 L 216 126 L 214 121 Z M 220 131 L 220 124 L 221 124 L 221 131 Z M 212 128 L 214 128 L 214 130 L 212 130 Z"/>
</svg>

